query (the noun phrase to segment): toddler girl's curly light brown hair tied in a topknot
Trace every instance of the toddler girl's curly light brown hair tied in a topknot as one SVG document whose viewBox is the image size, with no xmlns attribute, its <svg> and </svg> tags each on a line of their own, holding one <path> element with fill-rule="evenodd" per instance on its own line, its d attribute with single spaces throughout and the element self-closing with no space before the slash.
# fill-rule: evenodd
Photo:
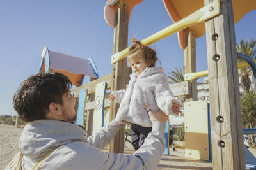
<svg viewBox="0 0 256 170">
<path fill-rule="evenodd" d="M 148 64 L 148 67 L 154 67 L 156 65 L 156 61 L 158 60 L 156 57 L 156 51 L 152 50 L 148 46 L 142 45 L 140 41 L 137 41 L 135 38 L 132 38 L 132 46 L 128 51 L 128 61 L 133 57 L 143 57 Z"/>
</svg>

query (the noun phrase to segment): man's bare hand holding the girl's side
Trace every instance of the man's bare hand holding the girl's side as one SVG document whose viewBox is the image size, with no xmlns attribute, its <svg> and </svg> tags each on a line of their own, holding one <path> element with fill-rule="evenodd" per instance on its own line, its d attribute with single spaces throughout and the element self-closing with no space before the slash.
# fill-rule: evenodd
<svg viewBox="0 0 256 170">
<path fill-rule="evenodd" d="M 164 125 L 166 124 L 169 117 L 163 111 L 159 110 L 157 112 L 153 112 L 147 103 L 145 103 L 145 108 L 148 111 L 148 115 L 152 123 L 154 121 L 159 121 L 159 122 L 163 122 Z"/>
</svg>

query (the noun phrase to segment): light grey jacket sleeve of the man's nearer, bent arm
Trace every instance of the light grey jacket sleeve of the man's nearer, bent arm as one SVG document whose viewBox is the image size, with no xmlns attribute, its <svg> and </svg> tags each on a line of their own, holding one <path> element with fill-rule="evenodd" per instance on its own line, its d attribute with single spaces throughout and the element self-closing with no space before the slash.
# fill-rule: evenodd
<svg viewBox="0 0 256 170">
<path fill-rule="evenodd" d="M 164 114 L 164 113 L 163 113 Z M 165 114 L 164 114 L 165 115 Z M 164 151 L 163 122 L 153 122 L 152 132 L 148 134 L 145 143 L 134 155 L 123 153 L 106 153 L 93 146 L 79 147 L 72 160 L 74 169 L 156 169 Z M 81 145 L 86 145 L 81 143 Z"/>
</svg>

